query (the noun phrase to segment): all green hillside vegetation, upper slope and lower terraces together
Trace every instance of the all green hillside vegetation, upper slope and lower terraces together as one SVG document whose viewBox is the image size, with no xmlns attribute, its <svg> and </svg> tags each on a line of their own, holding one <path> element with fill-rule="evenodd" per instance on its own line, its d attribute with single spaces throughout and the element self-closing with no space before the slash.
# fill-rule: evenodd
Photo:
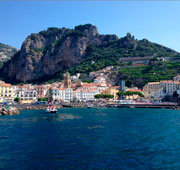
<svg viewBox="0 0 180 170">
<path fill-rule="evenodd" d="M 120 62 L 122 57 L 154 56 L 147 66 L 131 66 L 131 63 Z M 75 73 L 87 74 L 101 70 L 107 66 L 120 66 L 119 74 L 126 78 L 126 85 L 142 87 L 150 81 L 170 80 L 180 73 L 180 62 L 157 61 L 160 57 L 173 57 L 178 59 L 175 51 L 147 40 L 137 41 L 133 37 L 124 37 L 118 41 L 111 41 L 102 46 L 89 46 L 86 57 L 77 66 L 68 69 L 71 75 Z M 63 78 L 64 71 L 58 72 L 54 80 Z"/>
</svg>

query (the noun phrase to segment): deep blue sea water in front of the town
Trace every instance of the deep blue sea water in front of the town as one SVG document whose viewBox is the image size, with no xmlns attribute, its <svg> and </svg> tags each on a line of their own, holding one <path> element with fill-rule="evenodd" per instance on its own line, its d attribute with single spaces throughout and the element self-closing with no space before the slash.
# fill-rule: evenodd
<svg viewBox="0 0 180 170">
<path fill-rule="evenodd" d="M 1 116 L 0 169 L 180 169 L 180 111 L 66 108 Z"/>
</svg>

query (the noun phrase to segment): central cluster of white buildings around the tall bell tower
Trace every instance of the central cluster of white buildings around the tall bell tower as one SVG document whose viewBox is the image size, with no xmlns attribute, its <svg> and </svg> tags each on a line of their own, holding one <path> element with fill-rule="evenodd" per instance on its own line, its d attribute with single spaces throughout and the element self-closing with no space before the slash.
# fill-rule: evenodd
<svg viewBox="0 0 180 170">
<path fill-rule="evenodd" d="M 109 86 L 103 77 L 97 77 L 93 83 L 83 83 L 80 79 L 72 83 L 69 73 L 65 73 L 64 82 L 53 84 L 48 96 L 54 101 L 92 101 Z"/>
</svg>

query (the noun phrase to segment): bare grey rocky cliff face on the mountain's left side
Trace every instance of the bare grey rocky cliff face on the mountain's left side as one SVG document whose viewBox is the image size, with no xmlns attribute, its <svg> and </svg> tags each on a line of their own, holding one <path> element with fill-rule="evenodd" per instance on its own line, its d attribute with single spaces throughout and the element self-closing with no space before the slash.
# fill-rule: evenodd
<svg viewBox="0 0 180 170">
<path fill-rule="evenodd" d="M 26 82 L 51 76 L 79 64 L 88 46 L 99 46 L 117 39 L 115 35 L 99 35 L 97 28 L 90 24 L 74 29 L 49 28 L 31 34 L 21 50 L 3 66 L 3 77 Z"/>
</svg>

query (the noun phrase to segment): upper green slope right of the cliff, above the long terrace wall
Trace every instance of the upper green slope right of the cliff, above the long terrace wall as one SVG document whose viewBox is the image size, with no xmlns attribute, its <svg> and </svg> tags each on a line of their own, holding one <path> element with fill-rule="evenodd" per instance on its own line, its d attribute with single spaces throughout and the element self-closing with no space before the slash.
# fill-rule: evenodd
<svg viewBox="0 0 180 170">
<path fill-rule="evenodd" d="M 124 37 L 102 46 L 89 46 L 81 64 L 69 69 L 71 74 L 89 73 L 107 66 L 122 66 L 122 57 L 175 57 L 178 53 L 147 40 L 137 41 L 133 37 Z"/>
</svg>

